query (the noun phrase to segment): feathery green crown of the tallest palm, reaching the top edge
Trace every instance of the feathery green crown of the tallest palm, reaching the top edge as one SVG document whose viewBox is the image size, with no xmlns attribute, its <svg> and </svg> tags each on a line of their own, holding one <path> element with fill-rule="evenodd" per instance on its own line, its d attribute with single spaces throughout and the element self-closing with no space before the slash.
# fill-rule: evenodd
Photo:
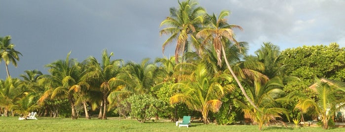
<svg viewBox="0 0 345 132">
<path fill-rule="evenodd" d="M 197 4 L 193 0 L 179 1 L 179 8 L 170 8 L 170 16 L 160 23 L 160 27 L 167 26 L 159 32 L 160 35 L 171 35 L 163 43 L 162 51 L 164 53 L 165 47 L 176 41 L 176 63 L 179 62 L 179 54 L 182 54 L 182 57 L 184 57 L 186 47 L 189 47 L 188 39 L 191 38 L 192 41 L 196 41 L 193 33 L 197 32 L 202 22 L 202 17 L 205 14 L 205 9 L 197 6 Z M 194 48 L 197 48 L 197 46 L 194 46 Z"/>
</svg>

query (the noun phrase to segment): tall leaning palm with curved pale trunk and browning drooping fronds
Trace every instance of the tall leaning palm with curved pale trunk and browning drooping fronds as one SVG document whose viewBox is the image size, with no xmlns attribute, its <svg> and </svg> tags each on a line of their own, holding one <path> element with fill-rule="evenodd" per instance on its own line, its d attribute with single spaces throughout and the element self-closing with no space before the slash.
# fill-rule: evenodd
<svg viewBox="0 0 345 132">
<path fill-rule="evenodd" d="M 242 94 L 244 97 L 248 100 L 248 102 L 253 105 L 256 109 L 259 110 L 259 108 L 255 105 L 255 103 L 250 99 L 244 90 L 241 82 L 238 80 L 236 74 L 233 72 L 233 70 L 230 67 L 230 64 L 228 62 L 226 50 L 225 50 L 225 43 L 226 41 L 230 40 L 234 42 L 236 46 L 240 46 L 237 40 L 234 38 L 235 35 L 233 33 L 233 28 L 237 28 L 242 30 L 242 27 L 237 26 L 237 25 L 229 25 L 227 23 L 227 20 L 225 19 L 226 16 L 229 16 L 230 12 L 223 10 L 218 18 L 216 17 L 215 14 L 212 16 L 208 15 L 208 27 L 206 29 L 201 30 L 199 33 L 196 34 L 196 37 L 198 38 L 204 38 L 204 43 L 207 44 L 209 42 L 213 43 L 214 49 L 217 54 L 217 60 L 218 60 L 218 65 L 221 66 L 222 64 L 222 53 L 223 53 L 223 58 L 225 60 L 226 65 L 228 66 L 228 69 L 231 72 L 231 75 L 233 78 L 236 80 L 238 86 L 240 87 Z"/>
</svg>

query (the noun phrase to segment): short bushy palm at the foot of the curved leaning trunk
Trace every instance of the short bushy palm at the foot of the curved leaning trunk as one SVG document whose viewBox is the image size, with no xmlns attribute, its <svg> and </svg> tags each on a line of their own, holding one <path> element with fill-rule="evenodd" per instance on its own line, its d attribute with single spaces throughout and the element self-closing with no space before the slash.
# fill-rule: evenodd
<svg viewBox="0 0 345 132">
<path fill-rule="evenodd" d="M 281 77 L 274 77 L 266 82 L 257 79 L 248 80 L 246 84 L 249 86 L 248 95 L 259 110 L 245 102 L 237 102 L 243 108 L 244 113 L 250 115 L 252 121 L 259 125 L 260 131 L 264 124 L 279 122 L 276 119 L 282 118 L 282 114 L 288 117 L 288 111 L 285 108 L 280 108 L 278 103 L 280 100 L 284 100 L 282 98 L 284 85 Z"/>
</svg>

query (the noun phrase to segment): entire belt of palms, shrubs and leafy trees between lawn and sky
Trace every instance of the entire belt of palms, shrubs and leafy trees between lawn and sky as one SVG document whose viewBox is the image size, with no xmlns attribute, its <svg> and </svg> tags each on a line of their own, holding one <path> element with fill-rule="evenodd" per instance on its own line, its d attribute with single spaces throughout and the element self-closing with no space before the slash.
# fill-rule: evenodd
<svg viewBox="0 0 345 132">
<path fill-rule="evenodd" d="M 169 35 L 163 52 L 176 44 L 175 57 L 123 62 L 104 50 L 102 60 L 91 56 L 78 62 L 68 53 L 46 65 L 49 74 L 26 70 L 20 79 L 11 78 L 7 65 L 16 66 L 21 53 L 10 36 L 0 37 L 0 59 L 8 75 L 0 80 L 0 115 L 37 111 L 40 117 L 131 116 L 139 122 L 191 115 L 221 125 L 249 117 L 259 130 L 269 123 L 322 115 L 328 129 L 344 107 L 339 104 L 345 104 L 345 89 L 318 78 L 345 80 L 345 48 L 331 43 L 280 51 L 264 43 L 256 56 L 249 56 L 247 43 L 233 33 L 242 28 L 229 24 L 229 15 L 226 10 L 210 15 L 195 1 L 179 1 L 160 24 L 160 34 Z M 314 81 L 316 91 L 309 90 Z"/>
</svg>

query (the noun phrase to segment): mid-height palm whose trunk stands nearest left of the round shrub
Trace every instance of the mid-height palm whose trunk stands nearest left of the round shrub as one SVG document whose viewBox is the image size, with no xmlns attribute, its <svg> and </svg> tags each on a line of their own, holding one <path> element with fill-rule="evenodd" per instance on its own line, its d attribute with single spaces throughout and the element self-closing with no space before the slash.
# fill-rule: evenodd
<svg viewBox="0 0 345 132">
<path fill-rule="evenodd" d="M 122 60 L 111 60 L 111 57 L 114 55 L 113 52 L 108 55 L 107 50 L 104 50 L 102 53 L 102 62 L 99 63 L 96 58 L 89 57 L 88 66 L 90 67 L 89 71 L 82 77 L 82 80 L 91 83 L 91 87 L 98 88 L 102 92 L 102 102 L 103 104 L 103 115 L 102 119 L 107 119 L 107 104 L 108 96 L 111 92 L 112 78 L 120 72 L 120 67 L 123 63 Z M 102 108 L 100 108 L 101 114 Z M 100 118 L 100 117 L 99 117 Z"/>
</svg>

